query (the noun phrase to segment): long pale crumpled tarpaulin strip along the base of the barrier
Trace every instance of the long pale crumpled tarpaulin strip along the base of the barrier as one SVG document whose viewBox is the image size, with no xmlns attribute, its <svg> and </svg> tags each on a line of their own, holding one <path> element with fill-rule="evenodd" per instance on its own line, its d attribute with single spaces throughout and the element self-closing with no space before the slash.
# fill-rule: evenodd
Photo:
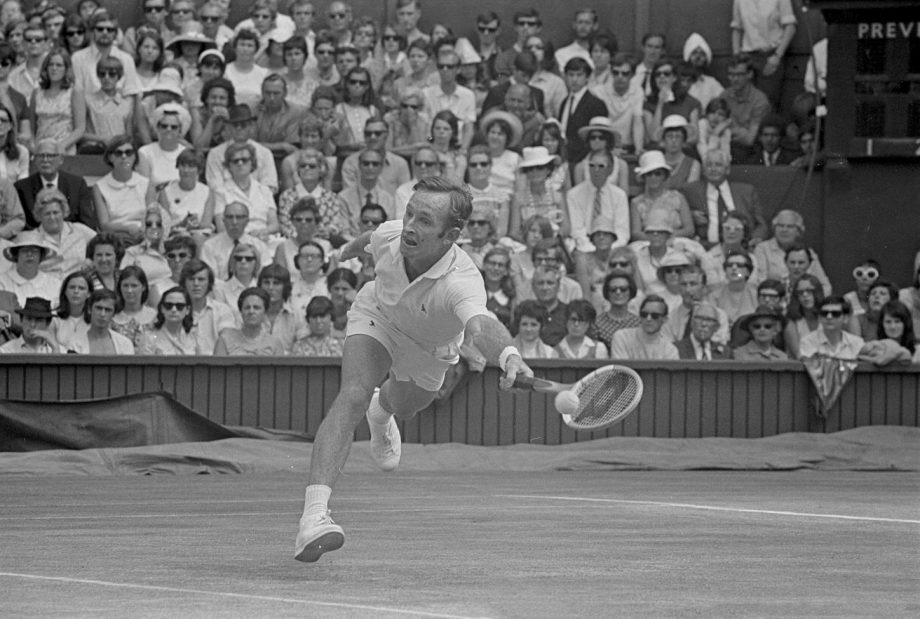
<svg viewBox="0 0 920 619">
<path fill-rule="evenodd" d="M 312 445 L 232 438 L 83 451 L 0 453 L 0 475 L 304 474 Z M 569 445 L 479 447 L 403 444 L 399 473 L 552 470 L 920 470 L 920 428 L 867 426 L 834 434 L 743 438 L 608 438 Z M 355 443 L 345 473 L 377 471 L 368 443 Z M 399 474 L 397 473 L 397 474 Z"/>
</svg>

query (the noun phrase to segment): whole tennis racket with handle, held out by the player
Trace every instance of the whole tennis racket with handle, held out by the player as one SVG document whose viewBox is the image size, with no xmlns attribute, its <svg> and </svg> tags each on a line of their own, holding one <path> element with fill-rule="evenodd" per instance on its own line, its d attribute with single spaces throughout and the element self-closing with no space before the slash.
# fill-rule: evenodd
<svg viewBox="0 0 920 619">
<path fill-rule="evenodd" d="M 556 408 L 568 401 L 572 412 L 560 410 L 565 425 L 575 430 L 600 430 L 621 421 L 633 412 L 642 400 L 642 379 L 632 368 L 606 365 L 573 384 L 557 383 L 532 376 L 518 376 L 514 386 L 543 393 L 556 394 Z M 563 395 L 564 393 L 572 395 Z M 577 399 L 577 405 L 576 405 Z"/>
</svg>

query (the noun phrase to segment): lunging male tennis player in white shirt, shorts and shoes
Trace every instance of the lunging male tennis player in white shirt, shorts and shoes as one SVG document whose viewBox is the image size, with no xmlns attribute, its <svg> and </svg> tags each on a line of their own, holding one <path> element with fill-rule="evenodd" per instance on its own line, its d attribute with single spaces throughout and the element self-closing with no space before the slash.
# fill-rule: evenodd
<svg viewBox="0 0 920 619">
<path fill-rule="evenodd" d="M 298 561 L 312 563 L 345 543 L 328 505 L 355 426 L 366 415 L 374 461 L 394 470 L 401 439 L 393 416 L 408 419 L 434 400 L 465 332 L 504 371 L 503 389 L 519 374 L 533 375 L 486 309 L 482 275 L 455 244 L 472 211 L 469 191 L 441 177 L 422 179 L 414 189 L 402 221 L 388 221 L 342 248 L 343 261 L 370 254 L 377 278 L 358 292 L 348 313 L 342 387 L 313 443 Z"/>
</svg>

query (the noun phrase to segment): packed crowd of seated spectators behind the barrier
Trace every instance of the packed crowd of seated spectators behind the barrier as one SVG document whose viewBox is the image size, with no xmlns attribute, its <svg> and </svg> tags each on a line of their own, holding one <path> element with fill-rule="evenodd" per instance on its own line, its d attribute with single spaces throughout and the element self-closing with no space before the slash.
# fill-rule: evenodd
<svg viewBox="0 0 920 619">
<path fill-rule="evenodd" d="M 424 32 L 424 2 L 388 24 L 341 0 L 235 24 L 228 0 L 140 0 L 134 24 L 0 2 L 0 352 L 341 355 L 374 265 L 338 249 L 443 175 L 525 357 L 920 362 L 920 259 L 835 294 L 801 214 L 768 221 L 731 178 L 821 165 L 823 83 L 783 109 L 790 0 L 734 0 L 724 80 L 697 33 L 631 54 L 592 8 L 569 40 L 533 8 Z M 90 186 L 75 154 L 110 171 Z"/>
</svg>

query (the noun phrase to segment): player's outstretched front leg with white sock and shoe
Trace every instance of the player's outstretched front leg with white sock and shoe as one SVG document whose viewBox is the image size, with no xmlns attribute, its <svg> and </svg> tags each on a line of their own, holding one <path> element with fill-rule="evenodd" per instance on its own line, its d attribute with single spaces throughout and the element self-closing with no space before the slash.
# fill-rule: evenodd
<svg viewBox="0 0 920 619">
<path fill-rule="evenodd" d="M 372 337 L 356 335 L 345 340 L 342 388 L 313 443 L 310 481 L 294 544 L 294 558 L 298 561 L 312 563 L 345 543 L 344 531 L 332 521 L 329 497 L 348 458 L 355 426 L 389 367 L 389 353 Z"/>
</svg>

